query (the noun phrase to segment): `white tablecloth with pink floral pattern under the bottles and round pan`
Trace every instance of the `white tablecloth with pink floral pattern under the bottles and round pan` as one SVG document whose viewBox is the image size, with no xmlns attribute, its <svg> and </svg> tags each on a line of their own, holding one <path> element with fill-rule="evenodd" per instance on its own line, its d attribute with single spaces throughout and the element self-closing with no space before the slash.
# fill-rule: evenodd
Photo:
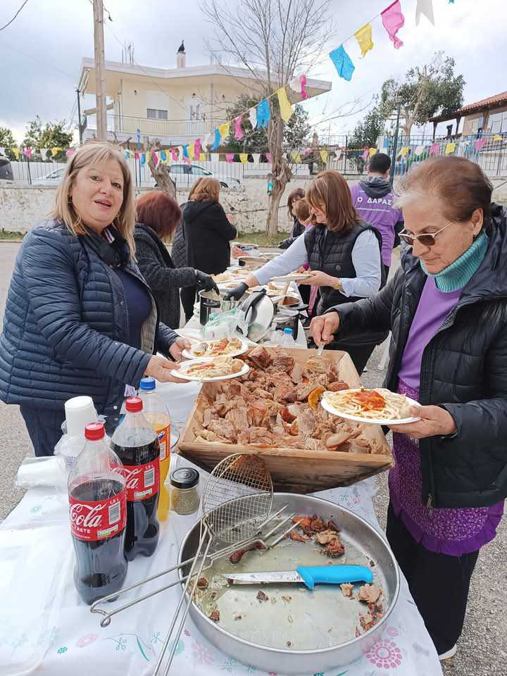
<svg viewBox="0 0 507 676">
<path fill-rule="evenodd" d="M 165 384 L 159 389 L 175 422 L 182 423 L 199 386 L 193 382 Z M 180 464 L 190 463 L 180 459 Z M 205 480 L 206 473 L 201 472 L 201 485 Z M 369 479 L 318 496 L 355 511 L 379 528 L 372 502 L 374 491 L 375 482 Z M 151 558 L 139 557 L 130 563 L 125 584 L 173 565 L 182 537 L 195 520 L 196 515 L 183 517 L 170 513 L 169 520 L 161 525 L 156 553 Z M 15 543 L 15 546 L 3 543 Z M 31 489 L 0 528 L 0 675 L 27 673 L 15 668 L 15 664 L 23 661 L 31 663 L 36 674 L 51 676 L 151 675 L 179 598 L 177 587 L 116 615 L 111 625 L 102 629 L 99 615 L 92 615 L 78 598 L 72 569 L 67 496 L 48 489 Z M 154 584 L 151 582 L 145 591 L 154 588 Z M 41 613 L 40 608 L 47 600 L 35 598 L 35 590 L 41 588 L 51 600 L 45 613 Z M 275 672 L 276 665 L 273 665 Z M 171 673 L 265 676 L 265 672 L 234 661 L 208 643 L 190 619 L 177 642 Z M 375 646 L 353 664 L 325 675 L 315 668 L 314 674 L 308 676 L 317 674 L 442 674 L 437 653 L 403 577 L 399 602 Z"/>
</svg>

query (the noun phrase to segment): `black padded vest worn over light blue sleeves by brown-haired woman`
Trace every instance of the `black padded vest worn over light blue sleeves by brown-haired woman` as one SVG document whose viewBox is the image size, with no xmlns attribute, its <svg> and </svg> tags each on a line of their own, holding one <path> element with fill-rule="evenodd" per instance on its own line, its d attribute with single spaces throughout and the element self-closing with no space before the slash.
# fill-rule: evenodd
<svg viewBox="0 0 507 676">
<path fill-rule="evenodd" d="M 382 250 L 382 235 L 371 225 L 354 225 L 351 230 L 345 233 L 332 232 L 325 225 L 315 225 L 311 230 L 305 233 L 306 253 L 308 254 L 308 263 L 311 270 L 322 270 L 323 273 L 332 277 L 344 277 L 353 279 L 357 277 L 356 268 L 352 262 L 352 250 L 356 239 L 365 230 L 371 230 L 379 244 L 379 250 Z M 382 258 L 380 261 L 380 288 L 386 282 L 384 265 Z M 316 314 L 323 314 L 328 308 L 342 303 L 353 303 L 358 301 L 356 296 L 347 298 L 332 287 L 320 287 L 320 300 L 318 302 Z"/>
</svg>

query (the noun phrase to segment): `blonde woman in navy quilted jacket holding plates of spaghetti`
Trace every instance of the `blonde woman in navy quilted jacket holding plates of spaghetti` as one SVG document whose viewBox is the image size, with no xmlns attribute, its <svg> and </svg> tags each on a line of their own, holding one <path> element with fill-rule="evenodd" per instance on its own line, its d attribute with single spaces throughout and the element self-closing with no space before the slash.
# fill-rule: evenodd
<svg viewBox="0 0 507 676">
<path fill-rule="evenodd" d="M 37 456 L 53 453 L 70 397 L 92 396 L 113 427 L 126 386 L 144 375 L 180 382 L 156 352 L 179 359 L 188 342 L 158 321 L 134 224 L 123 154 L 88 143 L 68 161 L 51 218 L 23 239 L 0 336 L 0 399 L 20 405 Z"/>
</svg>

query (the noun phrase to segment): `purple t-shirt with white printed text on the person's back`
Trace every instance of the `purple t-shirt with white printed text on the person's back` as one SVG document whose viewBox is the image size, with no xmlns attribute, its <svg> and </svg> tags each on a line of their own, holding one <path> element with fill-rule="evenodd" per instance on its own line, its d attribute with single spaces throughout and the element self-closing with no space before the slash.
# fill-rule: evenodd
<svg viewBox="0 0 507 676">
<path fill-rule="evenodd" d="M 394 208 L 392 192 L 383 197 L 368 196 L 361 184 L 356 183 L 351 187 L 351 195 L 356 211 L 358 211 L 365 223 L 375 227 L 382 235 L 382 261 L 385 265 L 391 265 L 392 248 L 394 244 L 394 226 L 399 220 L 403 220 L 401 211 Z"/>
</svg>

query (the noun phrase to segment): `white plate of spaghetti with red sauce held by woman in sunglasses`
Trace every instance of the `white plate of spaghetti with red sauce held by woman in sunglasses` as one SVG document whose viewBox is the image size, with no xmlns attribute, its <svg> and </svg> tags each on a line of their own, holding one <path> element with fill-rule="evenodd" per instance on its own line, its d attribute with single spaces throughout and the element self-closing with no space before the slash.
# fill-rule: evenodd
<svg viewBox="0 0 507 676">
<path fill-rule="evenodd" d="M 328 413 L 357 423 L 403 425 L 420 420 L 418 416 L 410 415 L 411 406 L 419 406 L 417 401 L 383 387 L 324 392 L 320 403 Z"/>
</svg>

